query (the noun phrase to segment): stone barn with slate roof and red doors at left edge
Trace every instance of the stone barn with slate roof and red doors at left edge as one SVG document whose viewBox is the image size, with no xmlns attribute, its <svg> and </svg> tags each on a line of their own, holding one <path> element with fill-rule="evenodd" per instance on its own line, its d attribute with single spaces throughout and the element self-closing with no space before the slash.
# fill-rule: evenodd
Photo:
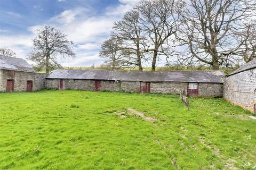
<svg viewBox="0 0 256 170">
<path fill-rule="evenodd" d="M 45 78 L 46 74 L 36 73 L 25 60 L 0 55 L 0 92 L 41 90 Z"/>
</svg>

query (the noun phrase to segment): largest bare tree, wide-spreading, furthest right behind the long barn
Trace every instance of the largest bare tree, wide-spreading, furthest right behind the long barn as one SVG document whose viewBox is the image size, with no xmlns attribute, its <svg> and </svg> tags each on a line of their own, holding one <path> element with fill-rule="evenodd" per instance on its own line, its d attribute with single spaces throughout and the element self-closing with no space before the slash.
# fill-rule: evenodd
<svg viewBox="0 0 256 170">
<path fill-rule="evenodd" d="M 245 39 L 237 32 L 245 29 L 242 21 L 255 15 L 255 1 L 250 0 L 190 0 L 187 1 L 185 27 L 180 38 L 187 43 L 191 60 L 197 60 L 219 70 L 229 64 L 231 55 L 241 53 Z M 181 37 L 181 35 L 183 37 Z"/>
</svg>

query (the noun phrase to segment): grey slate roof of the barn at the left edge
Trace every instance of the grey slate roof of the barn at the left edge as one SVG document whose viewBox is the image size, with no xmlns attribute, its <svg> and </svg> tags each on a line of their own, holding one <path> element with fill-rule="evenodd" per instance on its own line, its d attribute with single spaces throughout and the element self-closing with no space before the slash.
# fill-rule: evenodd
<svg viewBox="0 0 256 170">
<path fill-rule="evenodd" d="M 0 55 L 0 69 L 34 72 L 33 67 L 25 60 Z"/>
</svg>

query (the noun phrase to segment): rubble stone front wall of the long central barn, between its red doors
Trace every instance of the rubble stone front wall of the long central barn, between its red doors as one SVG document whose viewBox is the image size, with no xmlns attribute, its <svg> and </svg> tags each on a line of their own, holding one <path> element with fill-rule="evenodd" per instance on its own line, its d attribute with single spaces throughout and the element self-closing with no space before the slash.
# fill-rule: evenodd
<svg viewBox="0 0 256 170">
<path fill-rule="evenodd" d="M 94 90 L 93 80 L 66 79 L 64 81 L 65 89 Z M 58 89 L 59 79 L 47 79 L 46 87 Z M 179 94 L 181 89 L 185 89 L 187 94 L 187 87 L 186 82 L 151 82 L 150 93 Z M 222 97 L 221 83 L 199 83 L 198 87 L 199 97 Z M 140 92 L 140 82 L 101 80 L 100 90 Z"/>
</svg>

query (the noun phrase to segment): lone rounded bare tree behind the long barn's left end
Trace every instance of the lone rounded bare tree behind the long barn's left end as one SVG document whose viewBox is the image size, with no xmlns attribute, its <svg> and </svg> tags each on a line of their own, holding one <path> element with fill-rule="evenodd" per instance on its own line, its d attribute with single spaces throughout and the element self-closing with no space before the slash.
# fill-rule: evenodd
<svg viewBox="0 0 256 170">
<path fill-rule="evenodd" d="M 37 36 L 33 39 L 33 51 L 29 54 L 29 60 L 34 61 L 39 67 L 45 68 L 46 73 L 60 67 L 58 59 L 75 57 L 73 42 L 60 30 L 46 25 L 37 30 Z"/>
</svg>

